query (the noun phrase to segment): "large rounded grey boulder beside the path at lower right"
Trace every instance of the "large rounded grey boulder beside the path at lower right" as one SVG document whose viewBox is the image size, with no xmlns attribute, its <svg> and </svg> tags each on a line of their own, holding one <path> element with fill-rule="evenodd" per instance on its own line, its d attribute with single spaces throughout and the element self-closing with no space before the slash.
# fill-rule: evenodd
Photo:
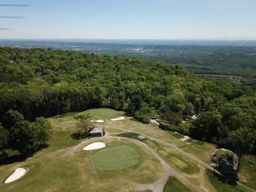
<svg viewBox="0 0 256 192">
<path fill-rule="evenodd" d="M 232 151 L 221 148 L 212 154 L 212 166 L 226 176 L 236 175 L 238 157 Z"/>
</svg>

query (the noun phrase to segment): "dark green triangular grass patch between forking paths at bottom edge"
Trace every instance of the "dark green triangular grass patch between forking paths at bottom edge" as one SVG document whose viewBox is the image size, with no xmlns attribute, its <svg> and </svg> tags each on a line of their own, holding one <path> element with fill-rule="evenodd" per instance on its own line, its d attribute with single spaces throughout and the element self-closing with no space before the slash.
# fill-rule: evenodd
<svg viewBox="0 0 256 192">
<path fill-rule="evenodd" d="M 176 177 L 169 177 L 164 192 L 191 192 L 183 183 L 177 180 Z"/>
</svg>

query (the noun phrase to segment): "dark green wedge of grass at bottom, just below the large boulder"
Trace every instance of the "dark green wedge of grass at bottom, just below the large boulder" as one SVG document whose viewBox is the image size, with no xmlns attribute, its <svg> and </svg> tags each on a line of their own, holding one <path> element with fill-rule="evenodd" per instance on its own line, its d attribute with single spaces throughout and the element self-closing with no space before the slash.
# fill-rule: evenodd
<svg viewBox="0 0 256 192">
<path fill-rule="evenodd" d="M 206 174 L 218 192 L 251 192 L 251 190 L 245 189 L 236 183 L 231 183 L 229 180 L 217 175 L 211 170 L 207 170 Z"/>
</svg>

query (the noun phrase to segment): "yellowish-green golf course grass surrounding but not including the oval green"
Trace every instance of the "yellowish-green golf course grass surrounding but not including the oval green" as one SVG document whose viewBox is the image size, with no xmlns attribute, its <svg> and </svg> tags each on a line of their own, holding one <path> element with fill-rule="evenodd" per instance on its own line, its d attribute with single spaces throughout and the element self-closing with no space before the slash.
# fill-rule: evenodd
<svg viewBox="0 0 256 192">
<path fill-rule="evenodd" d="M 124 130 L 140 131 L 146 135 L 159 138 L 168 143 L 175 144 L 182 147 L 188 153 L 195 154 L 195 156 L 206 160 L 207 155 L 211 154 L 215 148 L 210 143 L 201 143 L 197 141 L 189 141 L 192 144 L 180 142 L 176 137 L 172 136 L 168 131 L 161 131 L 157 125 L 144 125 L 137 121 L 132 121 L 125 117 L 122 121 L 110 121 L 111 118 L 124 116 L 122 112 L 113 111 L 111 109 L 91 109 L 85 113 L 91 113 L 93 118 L 106 119 L 101 125 L 106 130 L 114 135 L 123 133 Z M 108 147 L 129 144 L 132 148 L 138 149 L 142 153 L 142 162 L 137 166 L 104 171 L 97 169 L 93 163 L 94 154 L 97 151 L 84 152 L 82 148 L 73 155 L 66 155 L 69 148 L 77 145 L 81 141 L 74 140 L 71 135 L 76 131 L 76 120 L 73 116 L 76 113 L 68 113 L 54 118 L 49 121 L 54 127 L 52 137 L 50 138 L 49 148 L 44 148 L 32 157 L 25 161 L 16 162 L 5 166 L 0 166 L 0 191 L 87 191 L 87 192 L 126 192 L 134 191 L 134 183 L 154 183 L 163 172 L 163 168 L 158 160 L 145 150 L 143 146 L 129 141 L 109 140 L 104 141 Z M 129 136 L 131 137 L 131 136 Z M 101 141 L 101 138 L 99 138 Z M 195 184 L 205 191 L 214 191 L 215 189 L 205 174 L 205 168 L 197 164 L 194 160 L 190 160 L 187 156 L 180 154 L 175 149 L 166 147 L 163 144 L 155 143 L 150 140 L 145 140 L 147 144 L 154 148 L 170 166 L 173 166 L 177 171 L 183 173 L 184 176 L 191 179 Z M 193 146 L 193 147 L 192 147 Z M 213 147 L 212 147 L 213 146 Z M 205 149 L 207 153 L 202 153 Z M 249 159 L 244 159 L 245 163 L 241 163 L 241 167 L 247 167 L 242 175 L 250 175 L 250 181 L 253 181 L 254 169 L 247 164 Z M 255 160 L 255 159 L 252 159 Z M 29 172 L 25 177 L 20 178 L 15 183 L 3 184 L 6 177 L 8 177 L 15 168 L 29 167 Z M 255 166 L 254 166 L 255 167 Z M 248 180 L 249 177 L 247 177 Z M 228 188 L 227 188 L 228 189 Z M 229 191 L 229 190 L 227 190 Z M 238 190 L 239 191 L 239 190 Z M 231 191 L 232 192 L 232 191 Z"/>
</svg>

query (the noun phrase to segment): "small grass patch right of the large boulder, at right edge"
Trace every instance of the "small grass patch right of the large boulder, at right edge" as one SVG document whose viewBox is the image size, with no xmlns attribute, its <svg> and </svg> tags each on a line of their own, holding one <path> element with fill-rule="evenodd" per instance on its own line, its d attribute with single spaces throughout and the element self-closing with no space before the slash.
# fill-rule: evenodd
<svg viewBox="0 0 256 192">
<path fill-rule="evenodd" d="M 256 189 L 256 156 L 244 155 L 241 157 L 237 176 L 241 183 Z"/>
</svg>

